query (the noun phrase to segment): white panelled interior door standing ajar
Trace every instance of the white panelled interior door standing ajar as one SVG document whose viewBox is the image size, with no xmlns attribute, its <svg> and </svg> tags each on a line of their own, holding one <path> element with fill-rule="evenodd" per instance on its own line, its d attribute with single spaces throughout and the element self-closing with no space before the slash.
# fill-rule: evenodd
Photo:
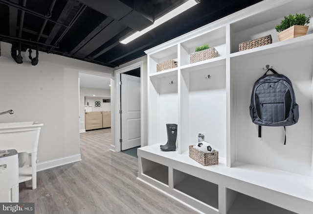
<svg viewBox="0 0 313 214">
<path fill-rule="evenodd" d="M 140 77 L 121 74 L 121 150 L 140 145 Z"/>
</svg>

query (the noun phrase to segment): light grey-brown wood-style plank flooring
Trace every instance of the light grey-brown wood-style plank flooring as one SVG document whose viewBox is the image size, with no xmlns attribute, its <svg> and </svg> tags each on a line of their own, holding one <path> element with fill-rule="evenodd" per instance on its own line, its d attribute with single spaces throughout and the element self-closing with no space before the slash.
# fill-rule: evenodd
<svg viewBox="0 0 313 214">
<path fill-rule="evenodd" d="M 36 214 L 193 214 L 172 198 L 138 181 L 137 158 L 110 151 L 111 129 L 80 134 L 82 161 L 37 172 L 20 184 L 20 202 Z"/>
</svg>

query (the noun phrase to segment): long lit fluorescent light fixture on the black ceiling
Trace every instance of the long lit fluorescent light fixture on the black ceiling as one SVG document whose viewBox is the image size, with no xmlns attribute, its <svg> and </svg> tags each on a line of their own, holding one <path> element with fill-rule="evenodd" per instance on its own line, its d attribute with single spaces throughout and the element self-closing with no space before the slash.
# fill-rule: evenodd
<svg viewBox="0 0 313 214">
<path fill-rule="evenodd" d="M 182 13 L 182 12 L 188 10 L 189 8 L 195 6 L 199 2 L 200 2 L 199 0 L 188 0 L 188 1 L 186 1 L 185 3 L 183 3 L 180 6 L 176 7 L 174 10 L 172 10 L 172 11 L 168 12 L 167 14 L 165 14 L 164 16 L 161 16 L 160 18 L 158 18 L 149 27 L 147 27 L 147 28 L 145 28 L 145 29 L 143 29 L 141 31 L 135 32 L 134 34 L 130 35 L 129 37 L 121 40 L 120 43 L 127 44 L 127 43 L 133 41 L 134 39 L 138 38 L 139 36 L 142 36 L 143 34 L 147 33 L 148 31 L 152 30 L 153 28 L 157 27 L 158 25 L 161 25 L 161 24 L 167 22 L 168 20 L 176 17 L 180 13 Z"/>
</svg>

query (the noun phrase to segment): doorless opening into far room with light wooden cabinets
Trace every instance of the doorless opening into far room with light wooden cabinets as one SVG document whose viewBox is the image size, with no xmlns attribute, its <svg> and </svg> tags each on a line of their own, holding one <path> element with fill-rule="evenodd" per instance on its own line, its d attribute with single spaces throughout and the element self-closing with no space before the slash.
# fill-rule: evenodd
<svg viewBox="0 0 313 214">
<path fill-rule="evenodd" d="M 112 73 L 79 72 L 79 129 L 80 140 L 87 135 L 94 141 L 110 143 Z M 91 140 L 91 139 L 90 139 Z M 91 142 L 91 141 L 90 141 Z M 110 144 L 108 146 L 110 146 Z"/>
</svg>

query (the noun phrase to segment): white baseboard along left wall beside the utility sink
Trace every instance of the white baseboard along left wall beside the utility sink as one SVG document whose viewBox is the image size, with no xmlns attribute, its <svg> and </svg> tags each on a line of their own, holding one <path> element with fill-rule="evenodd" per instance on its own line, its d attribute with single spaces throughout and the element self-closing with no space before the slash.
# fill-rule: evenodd
<svg viewBox="0 0 313 214">
<path fill-rule="evenodd" d="M 50 161 L 45 161 L 37 164 L 37 171 L 42 171 L 48 168 L 53 168 L 56 166 L 62 166 L 70 163 L 74 163 L 77 161 L 81 161 L 80 154 L 71 155 L 63 158 L 58 158 Z"/>
</svg>

